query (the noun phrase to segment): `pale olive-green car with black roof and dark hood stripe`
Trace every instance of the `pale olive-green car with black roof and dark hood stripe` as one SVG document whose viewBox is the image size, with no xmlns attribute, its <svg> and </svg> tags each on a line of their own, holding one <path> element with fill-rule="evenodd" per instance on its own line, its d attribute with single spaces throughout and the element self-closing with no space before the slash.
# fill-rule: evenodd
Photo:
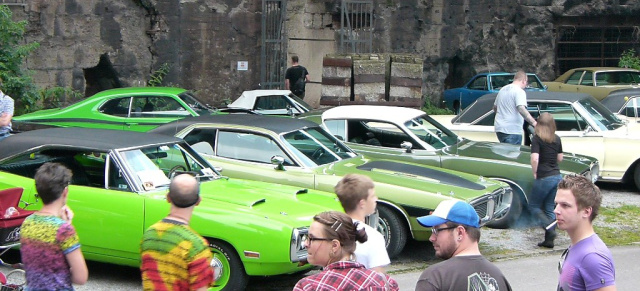
<svg viewBox="0 0 640 291">
<path fill-rule="evenodd" d="M 181 119 L 151 132 L 184 138 L 229 177 L 333 191 L 348 173 L 371 177 L 378 195 L 378 230 L 391 257 L 407 238 L 428 240 L 416 218 L 445 199 L 469 202 L 482 222 L 509 211 L 511 188 L 451 170 L 358 155 L 319 125 L 288 117 L 210 115 Z"/>
</svg>

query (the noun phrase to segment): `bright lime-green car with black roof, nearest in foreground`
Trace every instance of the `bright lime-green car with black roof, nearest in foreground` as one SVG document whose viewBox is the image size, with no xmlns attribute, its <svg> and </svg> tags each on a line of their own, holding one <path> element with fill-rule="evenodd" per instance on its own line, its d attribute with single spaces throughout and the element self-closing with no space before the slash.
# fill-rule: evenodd
<svg viewBox="0 0 640 291">
<path fill-rule="evenodd" d="M 52 128 L 12 135 L 0 146 L 0 190 L 22 188 L 20 207 L 37 210 L 33 176 L 45 162 L 66 165 L 68 204 L 89 260 L 140 265 L 142 233 L 166 216 L 169 178 L 190 173 L 202 202 L 191 227 L 214 253 L 213 290 L 243 290 L 248 275 L 305 271 L 304 240 L 313 215 L 342 210 L 335 194 L 229 179 L 184 141 L 103 129 Z"/>
</svg>

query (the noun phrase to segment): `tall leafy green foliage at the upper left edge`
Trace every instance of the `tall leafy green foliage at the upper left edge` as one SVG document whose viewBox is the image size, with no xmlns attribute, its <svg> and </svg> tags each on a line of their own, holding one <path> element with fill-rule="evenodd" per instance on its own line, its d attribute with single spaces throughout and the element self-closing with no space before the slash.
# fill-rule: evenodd
<svg viewBox="0 0 640 291">
<path fill-rule="evenodd" d="M 14 22 L 12 17 L 9 7 L 0 5 L 0 86 L 5 94 L 21 105 L 16 106 L 14 112 L 14 115 L 18 115 L 37 107 L 38 91 L 30 72 L 23 69 L 22 63 L 40 44 L 22 44 L 27 22 Z"/>
</svg>

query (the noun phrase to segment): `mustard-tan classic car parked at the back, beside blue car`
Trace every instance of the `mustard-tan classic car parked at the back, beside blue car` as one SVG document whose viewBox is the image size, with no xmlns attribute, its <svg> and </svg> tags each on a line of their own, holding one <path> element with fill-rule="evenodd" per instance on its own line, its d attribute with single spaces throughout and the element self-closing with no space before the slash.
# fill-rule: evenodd
<svg viewBox="0 0 640 291">
<path fill-rule="evenodd" d="M 542 83 L 547 91 L 587 93 L 602 100 L 615 90 L 640 88 L 640 71 L 613 67 L 576 68 L 553 82 Z"/>
</svg>

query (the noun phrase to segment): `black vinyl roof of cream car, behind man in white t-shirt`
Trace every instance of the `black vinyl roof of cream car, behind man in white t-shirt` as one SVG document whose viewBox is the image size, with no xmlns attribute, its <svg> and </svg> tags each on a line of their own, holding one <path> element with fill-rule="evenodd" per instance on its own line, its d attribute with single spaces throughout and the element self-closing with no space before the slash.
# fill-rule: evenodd
<svg viewBox="0 0 640 291">
<path fill-rule="evenodd" d="M 537 91 L 526 91 L 527 93 L 527 101 L 536 101 L 536 100 L 553 100 L 553 101 L 565 101 L 569 103 L 576 102 L 578 100 L 582 100 L 585 98 L 590 98 L 595 101 L 593 97 L 589 94 L 585 93 L 566 93 L 566 92 L 537 92 Z M 460 112 L 458 116 L 456 116 L 452 122 L 462 122 L 469 123 L 478 118 L 480 118 L 485 113 L 489 112 L 493 109 L 493 103 L 496 100 L 496 96 L 498 93 L 490 93 L 486 95 L 482 95 L 482 97 L 478 98 L 476 102 L 469 105 L 469 107 L 465 108 L 464 111 Z"/>
</svg>

